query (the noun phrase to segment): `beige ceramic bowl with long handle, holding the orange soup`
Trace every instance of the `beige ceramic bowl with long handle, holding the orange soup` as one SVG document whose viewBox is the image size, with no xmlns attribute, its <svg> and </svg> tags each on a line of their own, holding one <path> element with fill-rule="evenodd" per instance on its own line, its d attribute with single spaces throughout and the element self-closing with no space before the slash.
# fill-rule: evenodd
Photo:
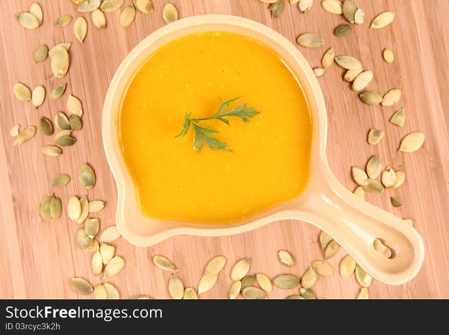
<svg viewBox="0 0 449 335">
<path fill-rule="evenodd" d="M 310 181 L 298 198 L 234 224 L 156 221 L 144 217 L 139 211 L 134 184 L 121 156 L 117 119 L 122 93 L 135 71 L 154 50 L 186 34 L 211 30 L 235 32 L 258 39 L 276 50 L 296 73 L 313 117 Z M 117 183 L 117 227 L 122 236 L 135 245 L 149 246 L 179 234 L 238 234 L 273 221 L 297 219 L 325 230 L 353 256 L 357 264 L 387 284 L 401 284 L 412 279 L 422 265 L 424 247 L 417 231 L 402 219 L 359 199 L 332 174 L 326 158 L 326 106 L 318 81 L 300 51 L 263 24 L 235 16 L 201 15 L 170 23 L 149 35 L 117 69 L 106 95 L 102 122 L 106 156 Z M 392 249 L 390 259 L 373 248 L 377 238 Z"/>
</svg>

